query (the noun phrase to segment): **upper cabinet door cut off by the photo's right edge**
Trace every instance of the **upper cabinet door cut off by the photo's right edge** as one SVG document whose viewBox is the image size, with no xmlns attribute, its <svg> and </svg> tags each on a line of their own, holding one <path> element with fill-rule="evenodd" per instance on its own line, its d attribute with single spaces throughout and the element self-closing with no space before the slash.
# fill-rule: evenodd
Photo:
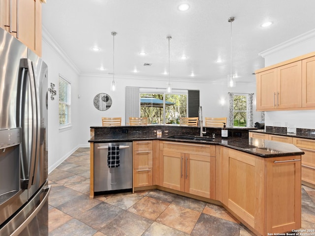
<svg viewBox="0 0 315 236">
<path fill-rule="evenodd" d="M 302 107 L 315 107 L 315 57 L 302 60 Z"/>
</svg>

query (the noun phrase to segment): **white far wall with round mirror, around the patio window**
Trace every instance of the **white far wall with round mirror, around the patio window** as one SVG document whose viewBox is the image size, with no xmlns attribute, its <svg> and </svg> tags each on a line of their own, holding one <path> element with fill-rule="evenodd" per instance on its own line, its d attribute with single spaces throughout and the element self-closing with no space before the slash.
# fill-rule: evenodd
<svg viewBox="0 0 315 236">
<path fill-rule="evenodd" d="M 80 120 L 80 145 L 88 145 L 90 139 L 90 127 L 100 126 L 101 117 L 122 117 L 122 125 L 126 124 L 125 120 L 125 88 L 126 87 L 150 87 L 150 88 L 166 88 L 166 80 L 164 78 L 143 79 L 139 77 L 115 77 L 117 90 L 110 91 L 110 83 L 112 77 L 82 75 L 79 82 L 79 107 L 82 111 Z M 254 78 L 253 78 L 254 79 Z M 200 105 L 202 106 L 203 117 L 228 117 L 229 100 L 228 92 L 240 93 L 256 93 L 255 84 L 249 86 L 247 84 L 237 84 L 235 88 L 228 89 L 224 85 L 215 85 L 212 83 L 196 83 L 171 80 L 173 89 L 199 89 Z M 93 105 L 93 99 L 98 93 L 107 93 L 111 96 L 113 103 L 110 109 L 99 111 Z M 225 104 L 221 106 L 221 99 Z M 255 104 L 255 96 L 254 96 Z M 255 112 L 254 105 L 253 121 L 261 120 L 261 113 Z"/>
</svg>

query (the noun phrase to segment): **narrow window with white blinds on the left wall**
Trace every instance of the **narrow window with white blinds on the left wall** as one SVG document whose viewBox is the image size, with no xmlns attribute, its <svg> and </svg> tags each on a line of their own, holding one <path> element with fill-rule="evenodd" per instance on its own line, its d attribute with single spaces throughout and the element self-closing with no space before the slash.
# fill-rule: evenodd
<svg viewBox="0 0 315 236">
<path fill-rule="evenodd" d="M 71 126 L 71 84 L 59 76 L 59 127 Z"/>
</svg>

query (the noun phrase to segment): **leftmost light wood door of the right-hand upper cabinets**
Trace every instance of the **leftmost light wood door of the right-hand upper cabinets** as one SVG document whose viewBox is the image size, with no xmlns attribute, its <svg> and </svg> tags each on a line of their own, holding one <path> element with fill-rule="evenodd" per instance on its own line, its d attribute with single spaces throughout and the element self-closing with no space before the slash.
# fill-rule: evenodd
<svg viewBox="0 0 315 236">
<path fill-rule="evenodd" d="M 256 88 L 256 110 L 266 111 L 275 109 L 277 96 L 277 68 L 258 73 L 256 75 Z"/>
</svg>

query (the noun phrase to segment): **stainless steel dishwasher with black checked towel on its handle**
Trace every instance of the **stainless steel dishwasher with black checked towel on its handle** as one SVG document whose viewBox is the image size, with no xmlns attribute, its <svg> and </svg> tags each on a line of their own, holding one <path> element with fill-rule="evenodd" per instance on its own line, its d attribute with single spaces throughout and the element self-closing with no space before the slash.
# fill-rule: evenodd
<svg viewBox="0 0 315 236">
<path fill-rule="evenodd" d="M 109 146 L 119 145 L 120 166 L 109 168 Z M 94 191 L 132 188 L 132 142 L 94 144 Z"/>
</svg>

